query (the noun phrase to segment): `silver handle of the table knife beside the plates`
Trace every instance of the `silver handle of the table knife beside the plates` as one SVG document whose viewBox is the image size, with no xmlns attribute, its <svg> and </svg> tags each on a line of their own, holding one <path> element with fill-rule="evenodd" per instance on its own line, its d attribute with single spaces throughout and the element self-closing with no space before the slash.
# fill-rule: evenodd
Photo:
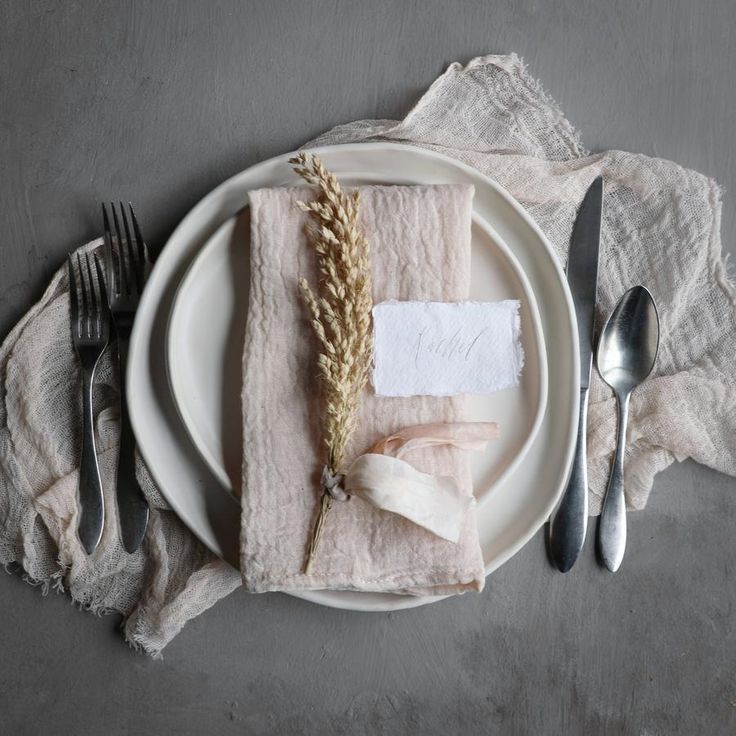
<svg viewBox="0 0 736 736">
<path fill-rule="evenodd" d="M 549 531 L 549 553 L 560 572 L 567 572 L 577 560 L 585 543 L 588 526 L 588 457 L 586 428 L 588 389 L 580 390 L 580 417 L 572 472 Z"/>
</svg>

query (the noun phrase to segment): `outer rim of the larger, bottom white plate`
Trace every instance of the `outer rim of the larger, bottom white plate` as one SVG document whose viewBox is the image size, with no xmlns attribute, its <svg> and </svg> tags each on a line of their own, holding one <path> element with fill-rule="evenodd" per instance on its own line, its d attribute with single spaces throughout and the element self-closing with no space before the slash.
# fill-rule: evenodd
<svg viewBox="0 0 736 736">
<path fill-rule="evenodd" d="M 336 149 L 341 149 L 342 151 L 356 151 L 356 152 L 365 152 L 369 151 L 370 149 L 375 150 L 377 147 L 383 148 L 385 150 L 391 151 L 395 150 L 398 153 L 404 152 L 404 153 L 411 153 L 412 155 L 416 155 L 419 157 L 423 157 L 426 159 L 429 159 L 430 163 L 434 159 L 435 161 L 438 161 L 440 163 L 443 163 L 446 166 L 449 166 L 453 169 L 456 169 L 459 172 L 464 173 L 467 175 L 471 180 L 477 180 L 482 182 L 485 186 L 487 186 L 492 192 L 500 198 L 503 204 L 505 204 L 507 207 L 509 207 L 516 217 L 523 222 L 523 224 L 528 228 L 531 233 L 534 235 L 535 239 L 541 244 L 542 249 L 545 253 L 546 260 L 548 261 L 547 267 L 551 269 L 551 272 L 554 274 L 555 278 L 555 286 L 559 289 L 561 296 L 564 300 L 564 306 L 565 306 L 565 316 L 567 317 L 565 321 L 564 328 L 569 331 L 569 347 L 571 348 L 572 354 L 569 356 L 569 377 L 571 379 L 569 384 L 569 390 L 571 395 L 577 396 L 579 394 L 579 387 L 580 387 L 580 370 L 579 370 L 579 347 L 577 343 L 577 339 L 575 338 L 575 335 L 577 335 L 577 326 L 575 322 L 574 317 L 574 307 L 573 307 L 573 301 L 572 301 L 572 295 L 570 293 L 569 287 L 567 285 L 567 280 L 564 275 L 564 271 L 562 269 L 562 266 L 556 257 L 552 246 L 547 239 L 547 237 L 544 235 L 544 233 L 541 231 L 537 223 L 533 220 L 533 218 L 524 210 L 524 208 L 508 193 L 506 190 L 501 187 L 498 183 L 496 183 L 493 179 L 488 177 L 486 174 L 483 174 L 477 169 L 472 168 L 471 166 L 463 163 L 462 161 L 453 158 L 452 156 L 448 156 L 442 153 L 438 153 L 436 151 L 433 151 L 431 149 L 423 148 L 421 146 L 417 145 L 408 145 L 403 143 L 390 143 L 390 142 L 359 142 L 359 143 L 345 143 L 345 144 L 336 144 L 336 145 L 329 145 L 329 146 L 320 146 L 309 149 L 313 153 L 317 154 L 329 154 L 332 151 L 335 151 Z M 170 274 L 165 275 L 165 279 L 171 280 L 172 278 L 175 278 L 177 275 L 180 276 L 180 272 L 182 271 L 181 265 L 177 267 L 177 258 L 181 259 L 181 256 L 174 254 L 175 251 L 172 248 L 168 248 L 169 245 L 175 244 L 179 245 L 178 250 L 181 250 L 183 245 L 179 243 L 179 241 L 186 241 L 186 231 L 190 227 L 192 227 L 192 223 L 196 222 L 198 219 L 203 220 L 203 224 L 201 227 L 199 227 L 200 231 L 200 237 L 207 237 L 207 231 L 209 231 L 209 235 L 211 235 L 217 227 L 219 227 L 220 224 L 222 224 L 222 218 L 229 217 L 233 211 L 228 207 L 228 195 L 230 193 L 230 189 L 233 186 L 237 185 L 237 182 L 240 178 L 251 175 L 251 176 L 257 176 L 262 175 L 263 170 L 267 169 L 269 166 L 273 166 L 275 163 L 280 162 L 282 159 L 286 158 L 289 154 L 282 154 L 280 156 L 275 156 L 272 158 L 269 158 L 265 161 L 262 161 L 260 163 L 257 163 L 253 166 L 247 167 L 233 176 L 229 177 L 225 181 L 223 181 L 221 184 L 219 184 L 217 187 L 212 189 L 210 192 L 208 192 L 204 197 L 202 197 L 197 204 L 192 207 L 189 212 L 184 216 L 184 218 L 181 220 L 181 222 L 177 225 L 177 227 L 172 232 L 171 236 L 168 238 L 166 246 L 162 249 L 158 259 L 156 260 L 156 263 L 154 265 L 153 272 L 151 273 L 151 276 L 149 278 L 149 287 L 150 284 L 155 280 L 157 272 L 165 272 L 166 269 L 171 271 Z M 219 224 L 216 224 L 218 223 Z M 174 254 L 174 255 L 172 255 Z M 173 261 L 173 264 L 171 267 L 169 267 L 169 262 Z M 139 315 L 141 313 L 144 313 L 146 309 L 149 309 L 151 311 L 150 316 L 150 322 L 151 324 L 147 325 L 148 330 L 150 331 L 151 328 L 155 326 L 155 319 L 156 319 L 156 307 L 159 304 L 159 302 L 164 301 L 166 299 L 166 287 L 168 281 L 164 281 L 163 285 L 160 289 L 157 289 L 156 295 L 154 296 L 154 291 L 151 288 L 148 288 L 144 290 L 143 296 L 141 299 L 141 302 L 139 304 Z M 151 303 L 153 306 L 149 308 L 149 303 Z M 136 365 L 142 365 L 144 366 L 144 370 L 148 370 L 148 373 L 150 375 L 150 366 L 147 363 L 148 355 L 148 343 L 146 342 L 147 338 L 147 330 L 145 327 L 142 326 L 142 320 L 138 319 L 136 320 L 136 323 L 133 328 L 133 333 L 131 335 L 131 343 L 130 343 L 130 361 L 129 361 L 129 370 L 126 375 L 126 388 L 128 389 L 128 396 L 133 397 L 134 394 L 131 393 L 131 389 L 135 390 L 134 381 L 136 378 L 136 371 L 133 370 L 133 367 Z M 151 343 L 153 344 L 153 343 Z M 155 392 L 152 390 L 152 387 L 155 385 L 155 379 L 149 378 L 151 381 L 151 389 L 148 391 L 152 396 L 155 396 Z M 146 411 L 146 404 L 141 399 L 141 403 L 136 403 L 137 400 L 133 400 L 132 398 L 129 398 L 129 411 L 130 411 L 130 417 L 131 422 L 133 425 L 134 432 L 136 434 L 136 438 L 138 439 L 141 436 L 141 430 L 142 427 L 145 425 L 146 419 L 145 419 L 145 411 Z M 567 425 L 570 428 L 569 436 L 566 438 L 566 442 L 564 444 L 564 449 L 561 450 L 560 456 L 562 457 L 562 467 L 560 468 L 560 471 L 555 476 L 555 481 L 557 483 L 557 488 L 555 489 L 554 493 L 551 495 L 551 497 L 547 500 L 546 504 L 543 506 L 541 513 L 538 513 L 534 520 L 528 525 L 528 528 L 521 534 L 519 534 L 515 541 L 507 544 L 503 550 L 499 551 L 491 560 L 489 560 L 486 563 L 485 571 L 486 575 L 490 574 L 493 570 L 497 569 L 500 565 L 505 563 L 508 559 L 510 559 L 516 552 L 519 551 L 540 529 L 540 527 L 545 523 L 545 521 L 549 518 L 550 513 L 555 508 L 557 503 L 559 502 L 559 499 L 564 491 L 564 488 L 567 484 L 567 479 L 569 477 L 570 468 L 572 465 L 572 459 L 574 454 L 574 438 L 577 432 L 577 423 L 578 423 L 578 410 L 577 406 L 574 405 L 575 402 L 570 402 L 570 406 L 567 407 L 567 414 L 565 416 L 567 420 Z M 140 411 L 140 415 L 139 415 Z M 161 412 L 165 414 L 163 408 L 161 409 Z M 150 462 L 150 456 L 152 449 L 151 447 L 146 447 L 145 444 L 139 444 L 140 452 L 146 462 L 147 467 L 149 468 L 149 472 L 151 473 L 151 476 L 156 481 L 157 485 L 159 486 L 159 489 L 162 493 L 162 495 L 166 498 L 166 500 L 171 505 L 171 508 L 174 510 L 174 512 L 179 516 L 179 518 L 182 520 L 182 522 L 189 527 L 189 529 L 192 531 L 193 534 L 195 534 L 196 537 L 198 537 L 203 544 L 205 544 L 206 547 L 209 549 L 212 549 L 212 545 L 208 544 L 207 541 L 202 537 L 202 534 L 198 533 L 195 529 L 192 528 L 189 521 L 186 519 L 186 514 L 182 513 L 179 509 L 180 504 L 178 503 L 177 499 L 173 494 L 170 494 L 166 490 L 166 484 L 161 481 L 160 473 L 156 469 L 154 469 L 154 464 Z M 357 611 L 390 611 L 390 610 L 400 610 L 404 608 L 412 608 L 416 606 L 421 606 L 426 603 L 430 603 L 434 600 L 437 600 L 438 597 L 436 596 L 422 596 L 422 597 L 412 597 L 412 596 L 397 596 L 396 601 L 391 601 L 390 603 L 387 602 L 385 599 L 382 599 L 380 601 L 374 600 L 359 600 L 360 596 L 363 594 L 355 594 L 351 591 L 340 591 L 341 593 L 344 593 L 342 596 L 336 596 L 336 595 L 327 595 L 327 594 L 334 594 L 336 591 L 305 591 L 305 592 L 299 592 L 299 593 L 291 593 L 291 595 L 296 595 L 297 597 L 305 598 L 307 600 L 310 600 L 315 603 L 319 603 L 321 605 L 326 605 L 333 608 L 342 608 L 342 609 L 349 609 L 349 610 L 357 610 Z M 322 593 L 323 596 L 320 596 L 319 594 Z M 358 599 L 356 600 L 356 596 Z"/>
</svg>

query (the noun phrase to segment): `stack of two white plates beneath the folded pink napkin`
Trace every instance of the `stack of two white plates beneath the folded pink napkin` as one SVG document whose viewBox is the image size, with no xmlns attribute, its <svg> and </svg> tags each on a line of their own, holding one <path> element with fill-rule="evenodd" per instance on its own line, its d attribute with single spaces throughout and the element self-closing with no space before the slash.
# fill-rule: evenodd
<svg viewBox="0 0 736 736">
<path fill-rule="evenodd" d="M 490 573 L 545 522 L 564 489 L 577 430 L 575 320 L 565 276 L 531 218 L 498 184 L 454 159 L 410 146 L 314 149 L 340 180 L 475 186 L 471 298 L 521 301 L 519 386 L 472 397 L 471 418 L 501 439 L 473 458 L 480 541 Z M 128 401 L 139 448 L 162 494 L 213 552 L 238 564 L 242 344 L 248 309 L 248 193 L 298 183 L 290 155 L 258 164 L 205 197 L 156 262 L 136 317 Z M 355 610 L 437 598 L 350 591 L 301 597 Z"/>
</svg>

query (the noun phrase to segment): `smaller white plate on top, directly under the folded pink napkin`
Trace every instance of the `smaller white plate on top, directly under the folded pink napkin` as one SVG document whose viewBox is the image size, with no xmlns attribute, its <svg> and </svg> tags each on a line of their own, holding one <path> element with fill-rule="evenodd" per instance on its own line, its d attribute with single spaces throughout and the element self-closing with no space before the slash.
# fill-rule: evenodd
<svg viewBox="0 0 736 736">
<path fill-rule="evenodd" d="M 344 183 L 359 176 L 342 174 Z M 391 183 L 388 181 L 387 183 Z M 167 366 L 184 426 L 210 470 L 228 490 L 240 486 L 242 350 L 250 276 L 249 212 L 222 225 L 194 259 L 177 290 L 167 335 Z M 537 302 L 516 258 L 473 213 L 471 292 L 477 301 L 518 299 L 524 369 L 519 385 L 473 396 L 469 418 L 496 421 L 501 435 L 471 455 L 475 496 L 513 472 L 529 449 L 547 402 L 547 356 Z"/>
</svg>

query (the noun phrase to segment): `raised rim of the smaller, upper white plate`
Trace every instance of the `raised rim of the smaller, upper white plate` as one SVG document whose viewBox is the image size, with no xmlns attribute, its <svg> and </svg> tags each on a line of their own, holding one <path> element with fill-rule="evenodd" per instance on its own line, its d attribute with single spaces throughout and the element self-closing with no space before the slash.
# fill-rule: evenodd
<svg viewBox="0 0 736 736">
<path fill-rule="evenodd" d="M 355 172 L 352 172 L 348 174 L 348 176 L 356 177 L 357 174 Z M 389 184 L 387 186 L 391 185 Z M 240 505 L 240 501 L 233 493 L 232 484 L 230 478 L 228 477 L 227 471 L 225 470 L 225 467 L 220 462 L 218 462 L 218 459 L 211 452 L 209 445 L 203 439 L 201 432 L 199 432 L 197 429 L 197 422 L 188 410 L 188 405 L 181 400 L 181 396 L 185 394 L 186 391 L 183 388 L 178 388 L 183 386 L 184 380 L 181 378 L 181 374 L 179 371 L 179 361 L 173 359 L 173 354 L 176 349 L 177 338 L 180 337 L 182 334 L 180 330 L 175 329 L 175 326 L 179 321 L 177 318 L 177 313 L 181 313 L 180 310 L 182 310 L 182 294 L 185 292 L 187 285 L 191 282 L 191 280 L 193 278 L 196 278 L 197 272 L 203 268 L 203 264 L 207 260 L 207 257 L 216 250 L 217 245 L 219 245 L 220 239 L 225 237 L 226 233 L 232 232 L 235 229 L 237 218 L 242 215 L 242 212 L 247 206 L 248 205 L 245 204 L 243 206 L 243 209 L 225 220 L 225 222 L 223 222 L 217 228 L 217 230 L 215 230 L 215 232 L 212 233 L 209 238 L 207 238 L 197 254 L 192 258 L 184 274 L 182 275 L 181 280 L 176 286 L 174 298 L 171 302 L 171 308 L 169 311 L 168 319 L 166 321 L 166 333 L 164 337 L 166 343 L 164 354 L 164 358 L 166 360 L 166 375 L 169 382 L 169 390 L 171 391 L 174 405 L 178 412 L 179 418 L 181 419 L 182 424 L 184 425 L 184 429 L 186 430 L 197 452 L 207 464 L 212 474 L 217 478 L 220 485 L 223 486 L 223 489 L 230 493 L 233 498 L 235 498 L 235 500 L 238 502 L 238 505 Z M 524 456 L 529 452 L 529 449 L 534 443 L 534 440 L 536 439 L 536 436 L 539 433 L 539 429 L 544 420 L 544 415 L 547 411 L 549 375 L 547 369 L 547 345 L 544 338 L 544 331 L 542 329 L 542 319 L 539 312 L 539 304 L 537 302 L 536 295 L 534 294 L 534 290 L 529 283 L 529 278 L 527 277 L 524 269 L 519 263 L 518 258 L 516 258 L 511 248 L 506 245 L 505 241 L 496 232 L 494 227 L 482 215 L 475 211 L 472 212 L 471 219 L 473 225 L 479 227 L 484 232 L 485 236 L 489 238 L 493 242 L 493 245 L 501 252 L 503 258 L 505 258 L 506 261 L 509 263 L 514 276 L 520 282 L 521 289 L 524 294 L 524 298 L 527 301 L 527 307 L 530 313 L 533 332 L 532 340 L 535 343 L 534 347 L 538 361 L 538 396 L 536 405 L 533 410 L 534 415 L 531 426 L 529 427 L 529 430 L 524 437 L 522 446 L 517 450 L 513 459 L 506 465 L 503 471 L 496 478 L 494 478 L 487 487 L 478 489 L 474 486 L 474 492 L 477 490 L 482 490 L 482 492 L 485 494 L 484 498 L 479 501 L 479 503 L 483 503 L 483 501 L 486 500 L 487 497 L 493 493 L 494 487 L 502 483 L 511 473 L 513 473 L 518 468 L 519 463 L 524 459 Z"/>
</svg>

